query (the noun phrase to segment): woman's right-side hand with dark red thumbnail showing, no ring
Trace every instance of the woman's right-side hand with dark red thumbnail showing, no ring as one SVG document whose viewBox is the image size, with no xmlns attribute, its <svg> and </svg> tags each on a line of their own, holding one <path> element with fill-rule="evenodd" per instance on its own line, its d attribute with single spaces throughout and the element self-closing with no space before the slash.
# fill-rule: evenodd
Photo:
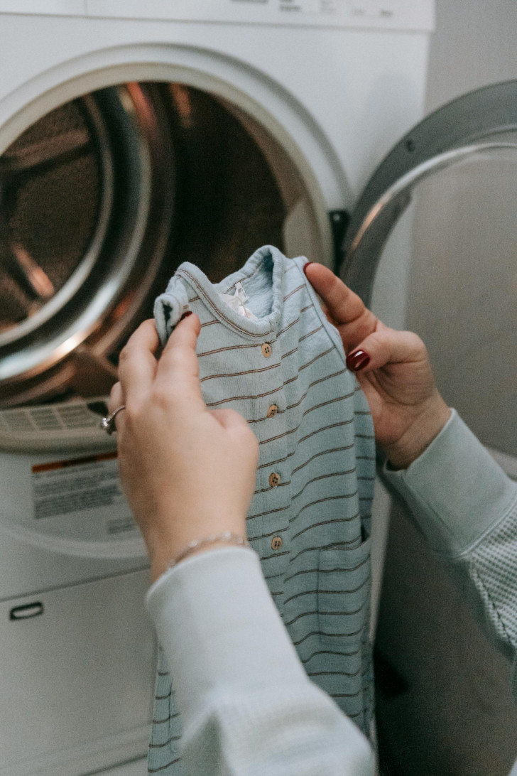
<svg viewBox="0 0 517 776">
<path fill-rule="evenodd" d="M 404 469 L 450 417 L 426 346 L 417 334 L 384 326 L 329 268 L 310 263 L 305 275 L 341 335 L 346 364 L 370 404 L 378 444 L 391 466 Z"/>
</svg>

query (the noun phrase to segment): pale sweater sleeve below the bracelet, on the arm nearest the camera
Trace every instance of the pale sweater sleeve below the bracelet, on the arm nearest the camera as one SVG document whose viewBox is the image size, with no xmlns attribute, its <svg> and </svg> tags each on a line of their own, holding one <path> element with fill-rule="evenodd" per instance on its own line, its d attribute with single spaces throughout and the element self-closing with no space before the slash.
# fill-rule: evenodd
<svg viewBox="0 0 517 776">
<path fill-rule="evenodd" d="M 175 677 L 189 776 L 371 776 L 360 730 L 303 670 L 250 549 L 175 566 L 147 608 Z"/>
</svg>

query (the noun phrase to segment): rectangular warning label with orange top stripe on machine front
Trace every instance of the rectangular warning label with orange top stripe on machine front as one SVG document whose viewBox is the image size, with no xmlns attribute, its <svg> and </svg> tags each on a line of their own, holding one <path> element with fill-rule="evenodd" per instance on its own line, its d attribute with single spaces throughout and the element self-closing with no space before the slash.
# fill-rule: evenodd
<svg viewBox="0 0 517 776">
<path fill-rule="evenodd" d="M 36 520 L 126 504 L 116 452 L 38 464 L 32 480 Z"/>
</svg>

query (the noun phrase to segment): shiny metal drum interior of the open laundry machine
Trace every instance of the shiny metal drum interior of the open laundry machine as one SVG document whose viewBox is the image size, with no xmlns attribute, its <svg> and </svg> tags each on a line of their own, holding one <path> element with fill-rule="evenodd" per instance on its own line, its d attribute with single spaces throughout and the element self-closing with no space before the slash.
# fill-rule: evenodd
<svg viewBox="0 0 517 776">
<path fill-rule="evenodd" d="M 222 101 L 131 83 L 60 106 L 0 157 L 0 406 L 108 393 L 119 349 L 183 261 L 212 282 L 285 208 Z"/>
</svg>

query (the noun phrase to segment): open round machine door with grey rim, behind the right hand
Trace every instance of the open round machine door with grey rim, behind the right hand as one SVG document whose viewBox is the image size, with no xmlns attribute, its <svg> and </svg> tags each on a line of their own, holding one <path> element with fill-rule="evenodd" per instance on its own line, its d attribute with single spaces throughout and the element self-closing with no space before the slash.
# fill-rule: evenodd
<svg viewBox="0 0 517 776">
<path fill-rule="evenodd" d="M 517 473 L 517 81 L 429 115 L 360 197 L 341 276 L 426 342 L 439 390 Z"/>
</svg>

